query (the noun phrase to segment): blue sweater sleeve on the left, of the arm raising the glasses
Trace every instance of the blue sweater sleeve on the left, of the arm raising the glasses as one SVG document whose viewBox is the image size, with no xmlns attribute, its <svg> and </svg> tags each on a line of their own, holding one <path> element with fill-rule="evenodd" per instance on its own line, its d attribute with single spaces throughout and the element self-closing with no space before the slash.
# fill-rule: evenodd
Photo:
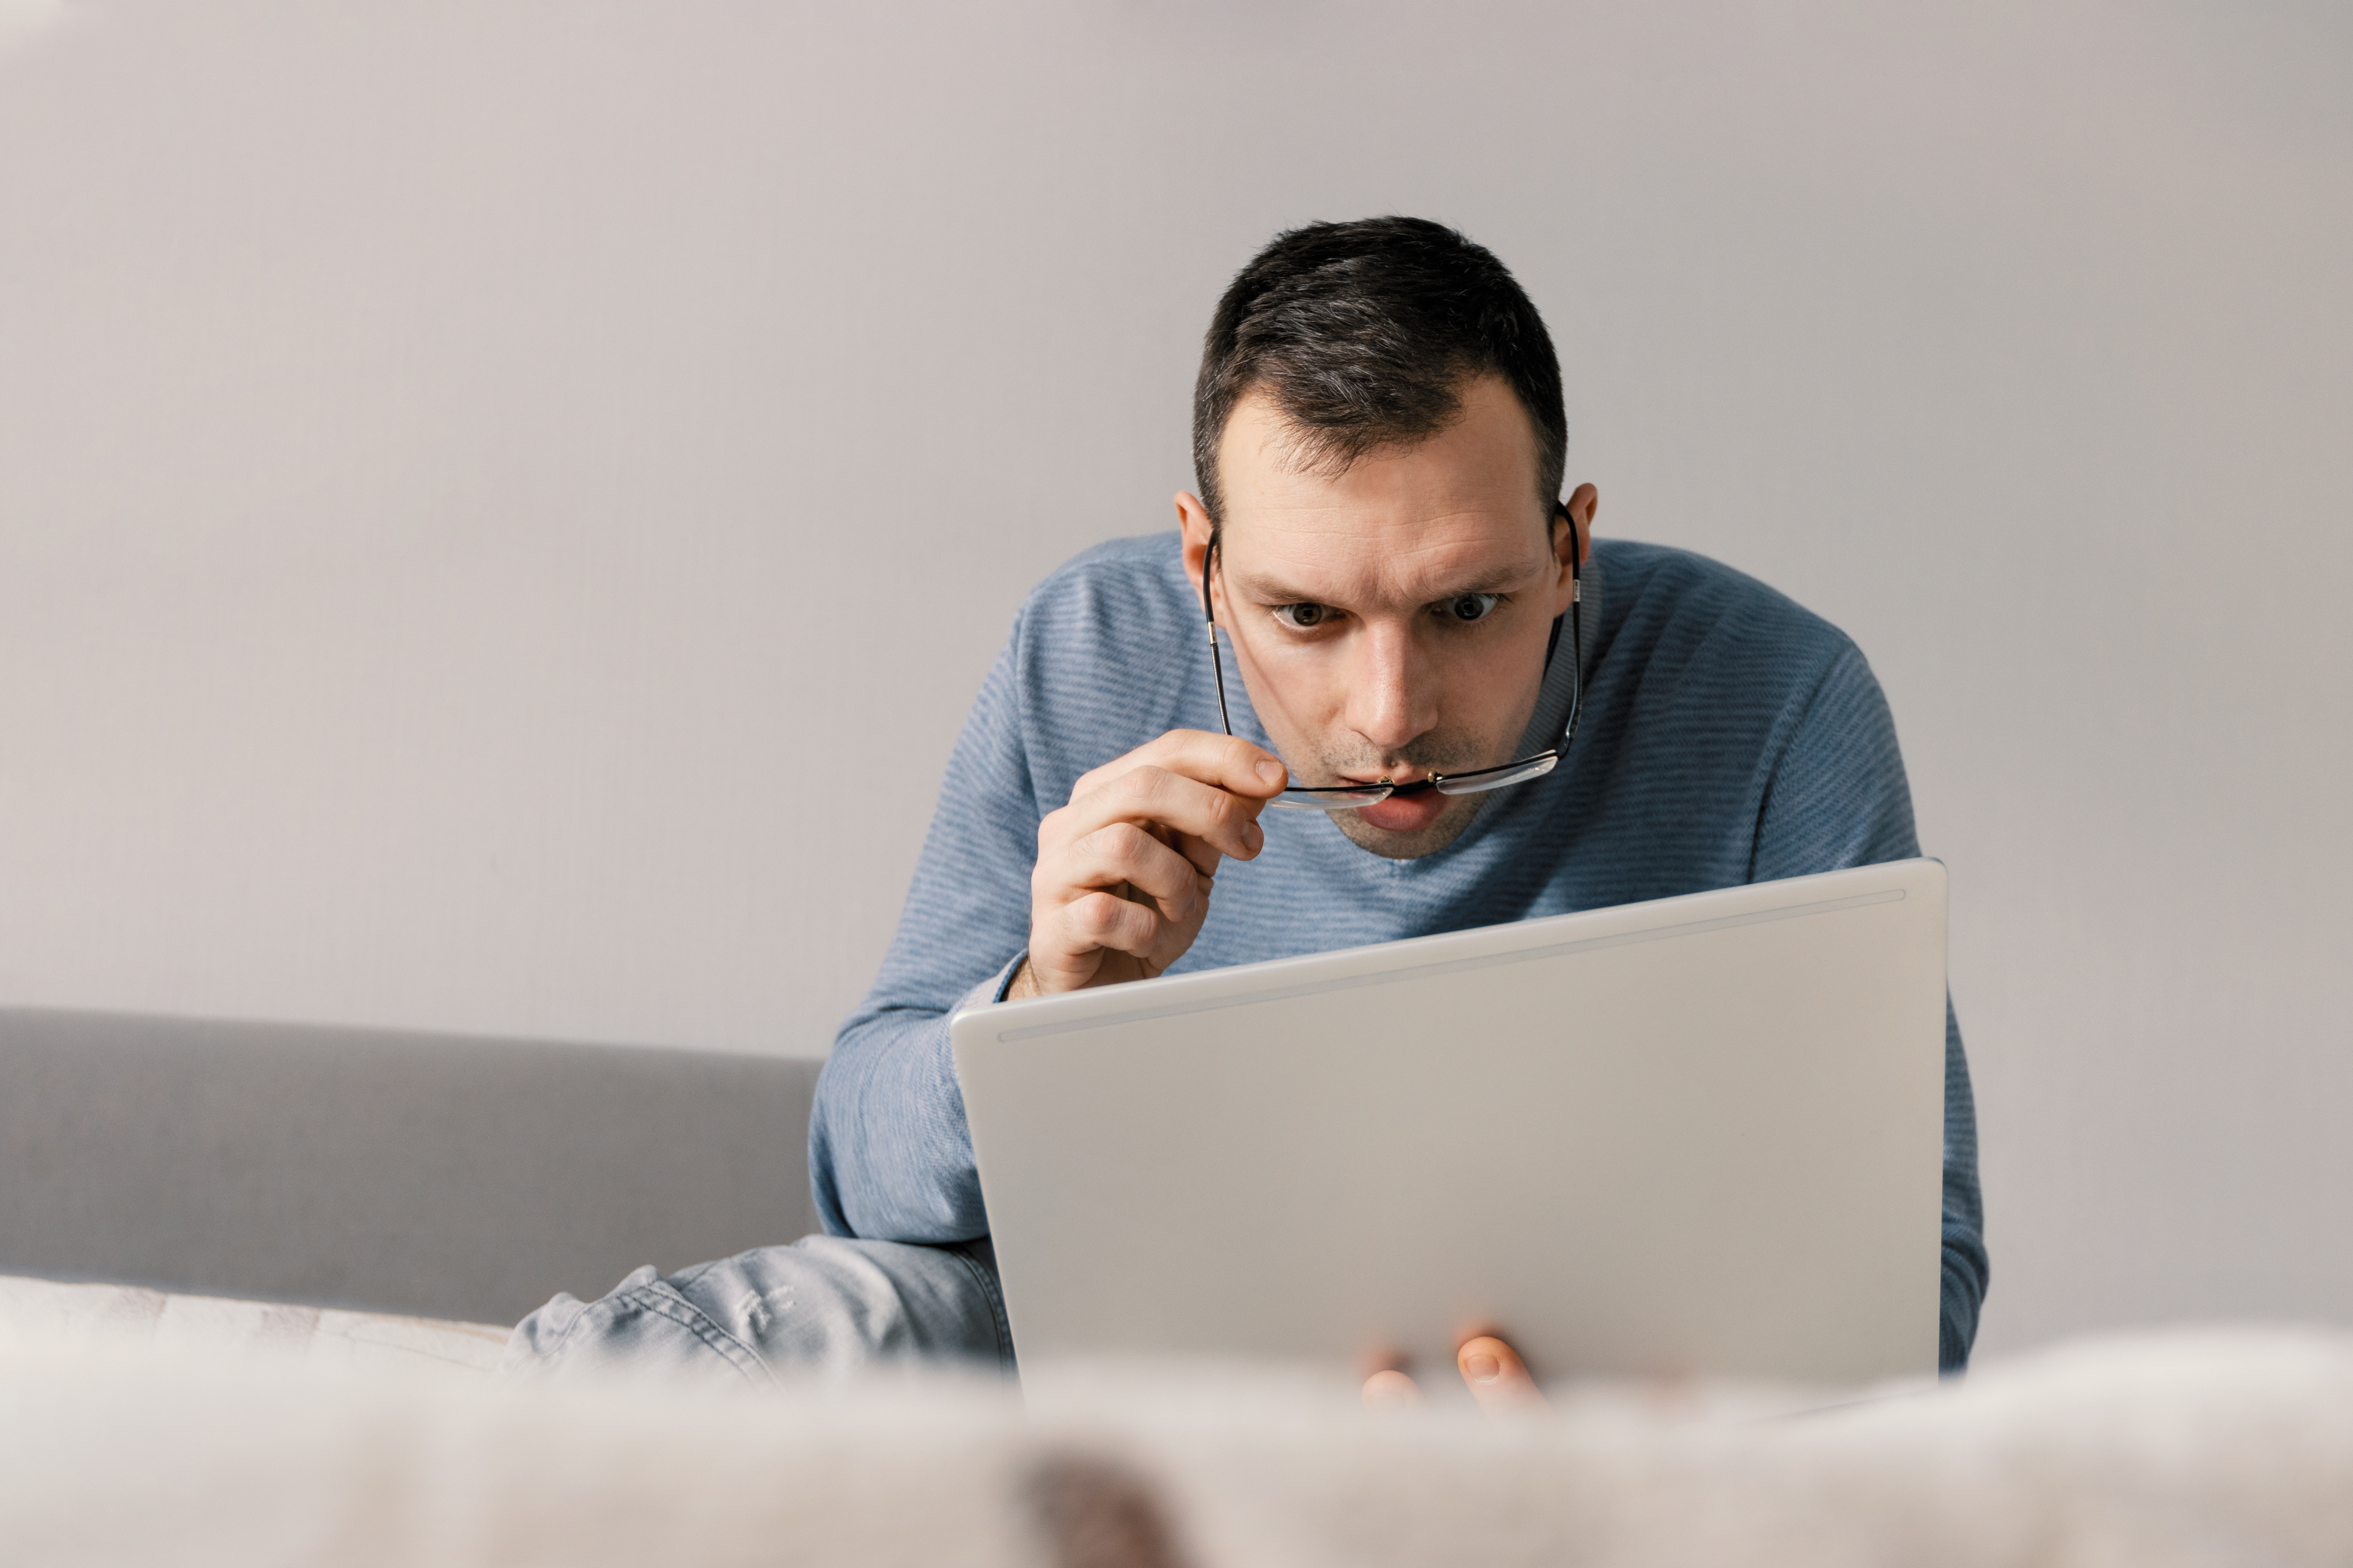
<svg viewBox="0 0 2353 1568">
<path fill-rule="evenodd" d="M 1021 632 L 1016 621 L 948 757 L 882 973 L 816 1079 L 809 1187 L 835 1237 L 988 1234 L 948 1016 L 1002 994 L 1028 940 L 1040 811 L 1024 741 Z"/>
</svg>

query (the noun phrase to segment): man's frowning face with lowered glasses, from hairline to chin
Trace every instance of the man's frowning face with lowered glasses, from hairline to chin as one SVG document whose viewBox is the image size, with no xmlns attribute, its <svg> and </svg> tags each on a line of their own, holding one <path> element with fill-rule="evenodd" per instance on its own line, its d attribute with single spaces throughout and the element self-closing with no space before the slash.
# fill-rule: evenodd
<svg viewBox="0 0 2353 1568">
<path fill-rule="evenodd" d="M 1292 425 L 1249 393 L 1226 423 L 1219 477 L 1217 618 L 1292 783 L 1513 762 L 1579 543 L 1537 498 L 1534 430 L 1504 381 L 1473 381 L 1447 430 L 1339 475 L 1301 468 Z M 1191 496 L 1179 512 L 1198 576 L 1207 515 Z M 1482 802 L 1431 790 L 1332 820 L 1409 860 L 1452 844 Z"/>
</svg>

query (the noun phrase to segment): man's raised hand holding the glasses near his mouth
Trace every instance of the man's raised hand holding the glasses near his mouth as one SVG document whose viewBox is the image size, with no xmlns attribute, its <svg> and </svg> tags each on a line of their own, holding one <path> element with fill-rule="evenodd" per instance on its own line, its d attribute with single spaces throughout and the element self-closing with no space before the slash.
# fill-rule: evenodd
<svg viewBox="0 0 2353 1568">
<path fill-rule="evenodd" d="M 1151 980 L 1184 957 L 1219 860 L 1259 853 L 1259 811 L 1282 785 L 1280 757 L 1200 729 L 1082 776 L 1038 823 L 1031 954 L 1007 997 Z"/>
</svg>

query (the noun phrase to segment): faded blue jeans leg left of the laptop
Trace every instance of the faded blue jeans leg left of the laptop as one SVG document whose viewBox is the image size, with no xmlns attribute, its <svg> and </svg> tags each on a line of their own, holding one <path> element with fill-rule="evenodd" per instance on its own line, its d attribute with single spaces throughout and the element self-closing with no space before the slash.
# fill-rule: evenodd
<svg viewBox="0 0 2353 1568">
<path fill-rule="evenodd" d="M 661 1279 L 652 1265 L 609 1295 L 558 1295 L 515 1324 L 499 1371 L 682 1373 L 774 1387 L 786 1373 L 941 1359 L 1014 1371 L 988 1239 L 955 1246 L 802 1237 Z"/>
</svg>

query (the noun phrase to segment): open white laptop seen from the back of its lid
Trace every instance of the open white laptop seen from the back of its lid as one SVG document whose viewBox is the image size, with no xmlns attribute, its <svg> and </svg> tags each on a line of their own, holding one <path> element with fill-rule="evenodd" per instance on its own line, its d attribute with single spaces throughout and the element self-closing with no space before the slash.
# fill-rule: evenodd
<svg viewBox="0 0 2353 1568">
<path fill-rule="evenodd" d="M 955 1016 L 1026 1363 L 1934 1375 L 1937 860 Z"/>
</svg>

